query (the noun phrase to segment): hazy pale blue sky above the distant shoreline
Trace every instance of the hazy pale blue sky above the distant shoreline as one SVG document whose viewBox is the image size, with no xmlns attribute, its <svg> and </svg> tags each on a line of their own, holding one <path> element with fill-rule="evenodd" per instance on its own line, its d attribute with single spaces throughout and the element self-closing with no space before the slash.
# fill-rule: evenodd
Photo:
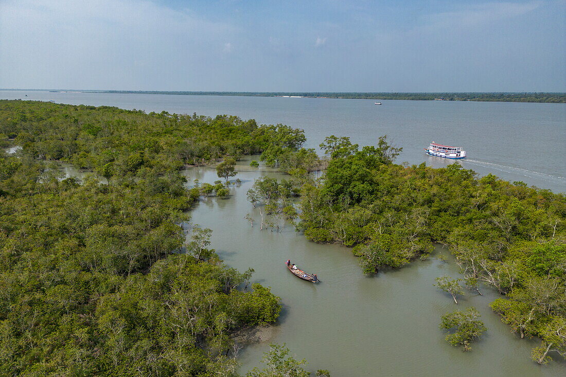
<svg viewBox="0 0 566 377">
<path fill-rule="evenodd" d="M 0 88 L 566 92 L 566 0 L 0 0 Z"/>
</svg>

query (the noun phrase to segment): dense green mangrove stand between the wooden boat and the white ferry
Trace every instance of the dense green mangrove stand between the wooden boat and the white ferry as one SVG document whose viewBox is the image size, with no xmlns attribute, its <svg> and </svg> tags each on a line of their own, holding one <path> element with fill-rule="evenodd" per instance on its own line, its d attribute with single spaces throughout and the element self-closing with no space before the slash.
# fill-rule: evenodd
<svg viewBox="0 0 566 377">
<path fill-rule="evenodd" d="M 432 242 L 450 245 L 466 284 L 485 282 L 506 294 L 493 309 L 513 331 L 542 338 L 537 361 L 545 351 L 566 354 L 564 194 L 477 178 L 459 164 L 396 165 L 397 150 L 383 138 L 358 150 L 331 136 L 321 148 L 331 156 L 328 169 L 302 190 L 307 238 L 354 246 L 367 273 L 424 257 Z"/>
</svg>

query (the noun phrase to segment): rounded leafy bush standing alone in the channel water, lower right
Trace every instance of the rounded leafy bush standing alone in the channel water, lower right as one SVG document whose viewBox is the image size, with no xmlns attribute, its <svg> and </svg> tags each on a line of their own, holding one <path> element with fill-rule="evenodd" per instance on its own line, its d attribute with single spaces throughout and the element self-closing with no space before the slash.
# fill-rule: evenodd
<svg viewBox="0 0 566 377">
<path fill-rule="evenodd" d="M 470 343 L 479 339 L 487 327 L 479 320 L 479 312 L 475 307 L 465 311 L 455 310 L 442 316 L 441 329 L 455 329 L 453 333 L 446 336 L 446 341 L 457 346 L 462 345 L 464 351 L 471 350 Z"/>
</svg>

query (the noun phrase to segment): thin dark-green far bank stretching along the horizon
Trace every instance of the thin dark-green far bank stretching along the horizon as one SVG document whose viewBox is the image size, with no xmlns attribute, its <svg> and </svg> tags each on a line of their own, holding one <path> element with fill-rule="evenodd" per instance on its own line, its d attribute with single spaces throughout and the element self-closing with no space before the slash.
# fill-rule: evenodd
<svg viewBox="0 0 566 377">
<path fill-rule="evenodd" d="M 0 91 L 83 92 L 110 94 L 158 94 L 186 96 L 242 96 L 242 97 L 295 97 L 295 98 L 343 98 L 366 100 L 411 100 L 411 101 L 482 101 L 482 102 L 543 102 L 566 103 L 566 93 L 553 92 L 431 92 L 431 93 L 385 93 L 385 92 L 192 92 L 192 91 L 102 91 L 78 89 L 0 89 Z"/>
</svg>

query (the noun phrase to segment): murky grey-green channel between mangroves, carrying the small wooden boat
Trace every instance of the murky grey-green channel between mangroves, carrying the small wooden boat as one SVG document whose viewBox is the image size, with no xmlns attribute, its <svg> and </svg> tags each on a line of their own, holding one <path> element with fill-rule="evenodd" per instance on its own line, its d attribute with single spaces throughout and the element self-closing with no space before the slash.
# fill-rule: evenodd
<svg viewBox="0 0 566 377">
<path fill-rule="evenodd" d="M 246 164 L 246 162 L 239 162 Z M 245 170 L 252 170 L 246 168 Z M 211 168 L 192 168 L 189 181 L 216 181 Z M 437 247 L 434 255 L 408 267 L 364 276 L 348 248 L 309 242 L 292 226 L 281 233 L 251 228 L 244 217 L 259 213 L 247 202 L 246 191 L 261 175 L 284 177 L 273 172 L 240 172 L 242 185 L 231 188 L 226 199 L 207 198 L 190 211 L 192 221 L 213 230 L 212 247 L 225 263 L 239 271 L 255 269 L 252 281 L 271 286 L 281 297 L 279 322 L 267 333 L 270 338 L 243 349 L 241 372 L 259 366 L 270 342 L 285 343 L 297 357 L 306 358 L 308 369 L 328 369 L 341 376 L 558 376 L 566 363 L 538 366 L 530 360 L 535 340 L 521 340 L 488 307 L 499 295 L 483 289 L 483 296 L 466 292 L 459 305 L 432 284 L 441 275 L 458 276 L 458 268 Z M 319 285 L 291 275 L 285 260 L 317 273 Z M 488 331 L 471 352 L 444 341 L 438 328 L 440 316 L 455 309 L 475 306 Z"/>
</svg>

